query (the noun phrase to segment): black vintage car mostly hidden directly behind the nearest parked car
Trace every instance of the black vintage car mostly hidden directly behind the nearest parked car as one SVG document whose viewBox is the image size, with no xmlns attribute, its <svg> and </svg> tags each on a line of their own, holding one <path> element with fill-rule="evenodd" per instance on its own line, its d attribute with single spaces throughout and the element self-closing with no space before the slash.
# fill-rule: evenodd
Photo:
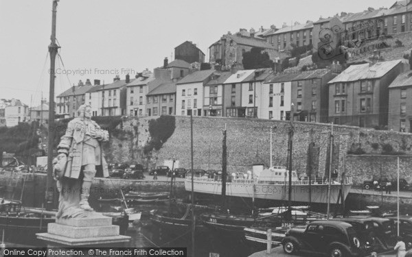
<svg viewBox="0 0 412 257">
<path fill-rule="evenodd" d="M 374 222 L 371 221 L 371 219 L 347 217 L 336 218 L 332 220 L 350 223 L 350 225 L 352 225 L 352 227 L 356 231 L 356 234 L 358 234 L 359 240 L 361 241 L 361 251 L 365 253 L 372 252 L 375 244 L 375 229 Z"/>
</svg>

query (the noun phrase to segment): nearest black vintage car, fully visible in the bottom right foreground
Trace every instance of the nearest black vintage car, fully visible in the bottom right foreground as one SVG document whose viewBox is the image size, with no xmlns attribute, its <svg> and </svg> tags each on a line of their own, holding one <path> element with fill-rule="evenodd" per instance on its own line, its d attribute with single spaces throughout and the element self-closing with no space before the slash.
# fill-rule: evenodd
<svg viewBox="0 0 412 257">
<path fill-rule="evenodd" d="M 310 252 L 332 257 L 358 256 L 361 241 L 356 231 L 343 221 L 313 221 L 304 228 L 292 228 L 282 239 L 286 254 Z"/>
</svg>

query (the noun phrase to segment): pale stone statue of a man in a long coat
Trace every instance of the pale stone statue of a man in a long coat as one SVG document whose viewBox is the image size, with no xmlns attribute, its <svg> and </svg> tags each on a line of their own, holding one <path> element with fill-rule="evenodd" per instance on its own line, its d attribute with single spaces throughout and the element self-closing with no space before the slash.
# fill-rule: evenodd
<svg viewBox="0 0 412 257">
<path fill-rule="evenodd" d="M 108 140 L 108 132 L 90 118 L 91 107 L 83 104 L 58 145 L 57 159 L 67 159 L 62 172 L 56 174 L 60 191 L 58 218 L 88 216 L 93 211 L 88 198 L 96 169 L 102 171 L 101 176 L 108 177 L 101 145 Z"/>
</svg>

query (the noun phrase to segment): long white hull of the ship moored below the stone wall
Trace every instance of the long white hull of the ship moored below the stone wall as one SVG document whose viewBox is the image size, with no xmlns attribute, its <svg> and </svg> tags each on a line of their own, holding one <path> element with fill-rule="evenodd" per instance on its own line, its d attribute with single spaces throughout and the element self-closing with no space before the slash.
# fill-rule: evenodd
<svg viewBox="0 0 412 257">
<path fill-rule="evenodd" d="M 253 193 L 253 185 L 254 191 Z M 330 186 L 330 203 L 336 204 L 341 191 L 341 184 L 332 184 Z M 351 184 L 345 184 L 343 199 L 352 187 Z M 185 180 L 185 190 L 192 191 L 192 183 Z M 221 195 L 222 183 L 213 180 L 194 180 L 194 192 L 208 195 Z M 248 182 L 227 182 L 226 195 L 232 197 L 255 198 L 264 200 L 288 200 L 288 186 L 284 184 L 252 184 Z M 328 203 L 328 184 L 293 184 L 291 188 L 291 201 L 301 203 Z"/>
</svg>

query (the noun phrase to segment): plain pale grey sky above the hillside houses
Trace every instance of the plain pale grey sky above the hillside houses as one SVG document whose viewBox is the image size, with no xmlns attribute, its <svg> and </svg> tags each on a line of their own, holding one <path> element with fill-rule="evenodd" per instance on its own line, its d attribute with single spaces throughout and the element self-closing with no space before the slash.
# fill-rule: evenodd
<svg viewBox="0 0 412 257">
<path fill-rule="evenodd" d="M 56 77 L 56 95 L 79 79 L 113 82 L 163 64 L 174 47 L 190 40 L 208 56 L 220 36 L 240 28 L 258 30 L 282 23 L 317 21 L 369 6 L 389 8 L 395 0 L 60 0 L 57 39 L 67 72 Z M 0 0 L 0 98 L 38 105 L 49 94 L 52 0 Z M 47 59 L 46 59 L 47 57 Z M 174 56 L 173 56 L 174 58 Z M 207 58 L 207 57 L 206 57 Z M 62 73 L 63 66 L 56 60 Z M 109 73 L 106 72 L 109 70 Z"/>
</svg>

